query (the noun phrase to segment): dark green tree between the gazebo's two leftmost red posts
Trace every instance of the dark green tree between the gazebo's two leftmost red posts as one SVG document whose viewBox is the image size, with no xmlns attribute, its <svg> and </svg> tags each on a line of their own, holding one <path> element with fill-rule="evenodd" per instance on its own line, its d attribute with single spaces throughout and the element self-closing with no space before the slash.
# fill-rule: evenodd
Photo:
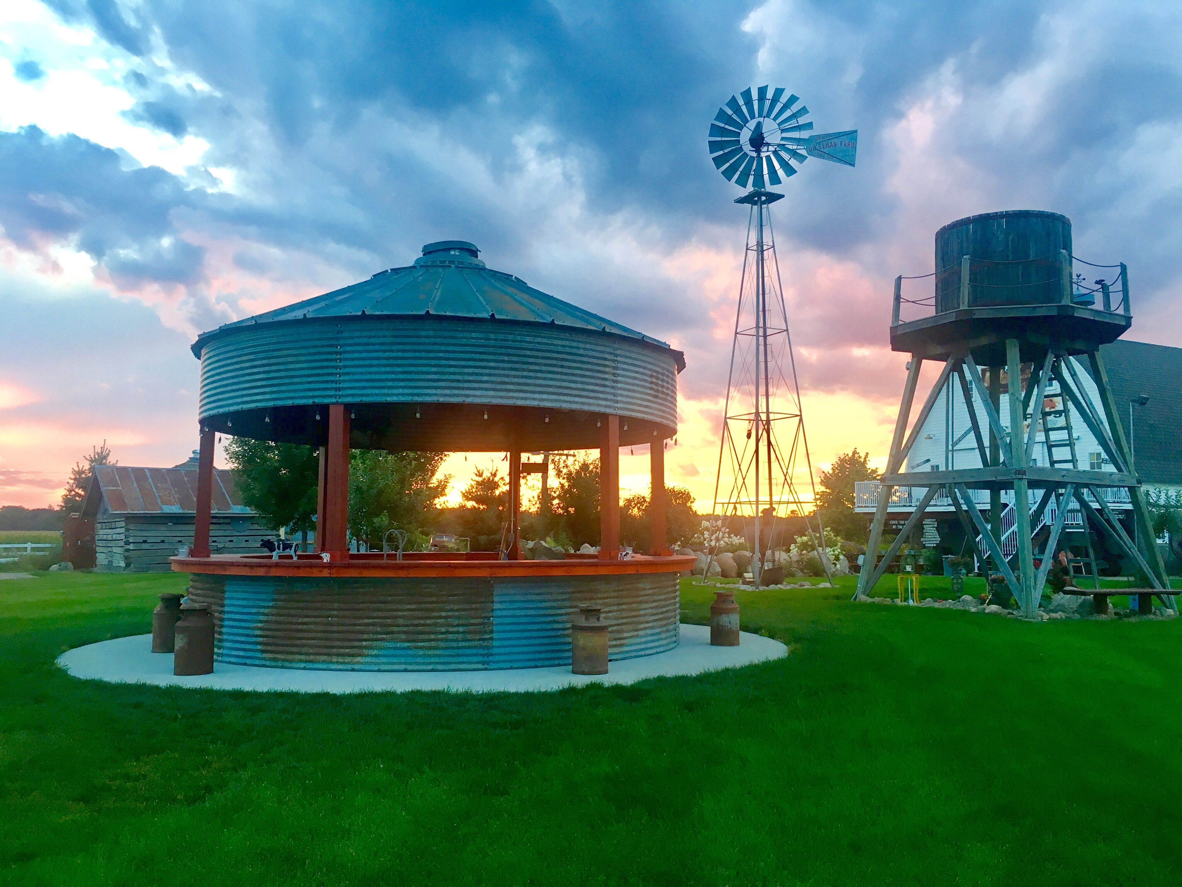
<svg viewBox="0 0 1182 887">
<path fill-rule="evenodd" d="M 242 503 L 254 509 L 267 526 L 316 529 L 320 457 L 314 447 L 230 438 L 226 459 Z"/>
</svg>

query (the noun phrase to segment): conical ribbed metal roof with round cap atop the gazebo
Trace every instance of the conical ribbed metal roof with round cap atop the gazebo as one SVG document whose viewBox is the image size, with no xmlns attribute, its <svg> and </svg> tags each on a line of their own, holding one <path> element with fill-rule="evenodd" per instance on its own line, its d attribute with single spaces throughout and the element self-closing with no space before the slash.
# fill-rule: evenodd
<svg viewBox="0 0 1182 887">
<path fill-rule="evenodd" d="M 634 329 L 535 290 L 514 274 L 494 271 L 466 240 L 442 240 L 423 247 L 422 258 L 407 267 L 379 271 L 369 280 L 316 296 L 203 332 L 193 344 L 201 350 L 209 339 L 242 326 L 333 317 L 463 317 L 517 323 L 543 323 L 596 330 L 665 345 Z M 681 352 L 678 369 L 684 365 Z"/>
</svg>

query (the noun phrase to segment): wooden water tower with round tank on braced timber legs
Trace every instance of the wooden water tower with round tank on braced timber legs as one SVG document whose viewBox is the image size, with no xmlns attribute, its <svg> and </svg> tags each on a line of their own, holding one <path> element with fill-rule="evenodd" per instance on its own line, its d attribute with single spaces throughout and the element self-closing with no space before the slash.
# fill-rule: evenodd
<svg viewBox="0 0 1182 887">
<path fill-rule="evenodd" d="M 1092 270 L 1095 283 L 1073 273 L 1076 263 Z M 993 563 L 1027 616 L 1038 609 L 1067 512 L 1077 507 L 1085 527 L 1108 533 L 1154 588 L 1168 589 L 1099 355 L 1100 345 L 1132 323 L 1124 264 L 1099 266 L 1074 258 L 1070 219 L 1024 209 L 946 225 L 936 232 L 935 268 L 895 278 L 891 350 L 911 355 L 911 361 L 856 596 L 870 593 L 937 496 L 950 500 L 969 540 L 976 537 L 979 561 Z M 924 361 L 942 368 L 908 432 Z M 1098 397 L 1083 383 L 1085 373 Z M 978 466 L 901 473 L 946 387 L 949 397 L 963 397 Z M 1072 422 L 1091 432 L 1112 470 L 1080 466 Z M 1032 458 L 1035 439 L 1046 445 L 1044 465 Z M 888 506 L 900 487 L 926 492 L 878 561 Z M 1112 491 L 1122 498 L 1128 491 L 1136 525 L 1131 537 L 1109 505 Z M 986 496 L 988 519 L 978 507 Z M 1048 530 L 1035 533 L 1051 513 Z M 1000 545 L 1004 517 L 1014 524 L 1012 555 Z M 1171 595 L 1162 600 L 1176 608 Z"/>
</svg>

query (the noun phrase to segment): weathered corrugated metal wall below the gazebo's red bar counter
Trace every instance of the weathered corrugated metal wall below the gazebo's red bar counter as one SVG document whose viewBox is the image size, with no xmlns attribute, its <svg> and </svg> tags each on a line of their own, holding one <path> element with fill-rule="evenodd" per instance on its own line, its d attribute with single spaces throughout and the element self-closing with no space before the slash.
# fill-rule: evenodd
<svg viewBox="0 0 1182 887">
<path fill-rule="evenodd" d="M 603 608 L 609 658 L 677 646 L 677 577 L 190 577 L 209 604 L 219 662 L 405 672 L 569 665 L 571 619 Z"/>
</svg>

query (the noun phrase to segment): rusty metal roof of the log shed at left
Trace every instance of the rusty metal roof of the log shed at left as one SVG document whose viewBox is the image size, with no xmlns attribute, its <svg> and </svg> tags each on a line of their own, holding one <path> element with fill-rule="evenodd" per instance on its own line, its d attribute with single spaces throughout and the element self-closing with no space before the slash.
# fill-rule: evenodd
<svg viewBox="0 0 1182 887">
<path fill-rule="evenodd" d="M 196 466 L 137 468 L 129 465 L 96 465 L 82 513 L 92 519 L 100 501 L 116 514 L 196 513 Z M 213 511 L 215 514 L 254 514 L 242 504 L 233 473 L 214 470 Z"/>
</svg>

